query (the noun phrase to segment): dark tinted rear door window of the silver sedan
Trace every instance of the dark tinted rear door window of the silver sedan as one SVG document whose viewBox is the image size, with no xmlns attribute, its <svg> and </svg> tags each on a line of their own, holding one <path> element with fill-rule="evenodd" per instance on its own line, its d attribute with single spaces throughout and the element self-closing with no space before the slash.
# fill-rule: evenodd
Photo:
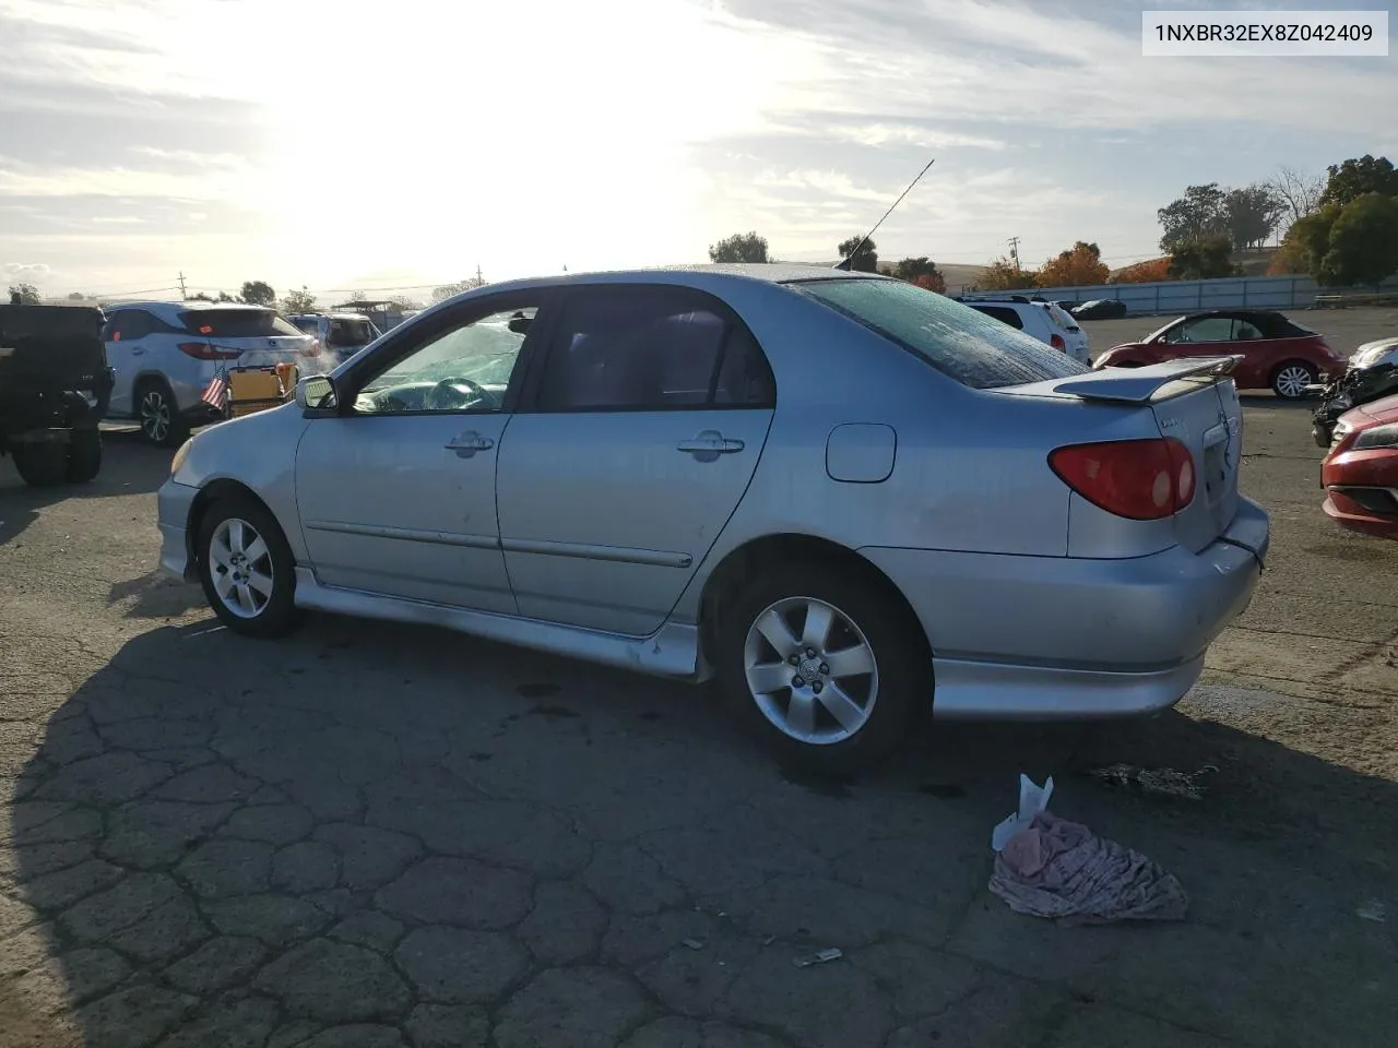
<svg viewBox="0 0 1398 1048">
<path fill-rule="evenodd" d="M 573 298 L 538 393 L 542 411 L 705 407 L 728 321 L 670 288 L 596 288 Z"/>
</svg>

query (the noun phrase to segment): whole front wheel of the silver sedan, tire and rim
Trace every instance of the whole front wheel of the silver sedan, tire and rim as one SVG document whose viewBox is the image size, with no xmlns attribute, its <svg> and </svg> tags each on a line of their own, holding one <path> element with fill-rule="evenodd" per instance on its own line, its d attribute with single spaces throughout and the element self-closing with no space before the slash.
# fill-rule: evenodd
<svg viewBox="0 0 1398 1048">
<path fill-rule="evenodd" d="M 266 506 L 249 496 L 217 500 L 200 523 L 197 542 L 199 581 L 228 629 L 259 639 L 295 629 L 294 558 Z"/>
</svg>

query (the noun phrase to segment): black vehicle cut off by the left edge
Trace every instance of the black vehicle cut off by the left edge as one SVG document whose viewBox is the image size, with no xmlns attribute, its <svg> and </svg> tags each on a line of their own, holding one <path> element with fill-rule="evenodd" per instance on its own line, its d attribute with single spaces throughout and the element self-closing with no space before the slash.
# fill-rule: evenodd
<svg viewBox="0 0 1398 1048">
<path fill-rule="evenodd" d="M 0 456 L 25 483 L 91 481 L 113 374 L 92 306 L 0 305 Z"/>
</svg>

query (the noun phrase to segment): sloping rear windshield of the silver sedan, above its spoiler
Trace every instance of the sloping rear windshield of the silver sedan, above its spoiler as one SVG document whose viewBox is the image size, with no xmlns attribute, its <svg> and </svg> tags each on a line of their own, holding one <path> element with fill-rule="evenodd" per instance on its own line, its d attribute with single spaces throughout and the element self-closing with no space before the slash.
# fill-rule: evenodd
<svg viewBox="0 0 1398 1048">
<path fill-rule="evenodd" d="M 945 295 L 895 279 L 790 285 L 909 349 L 962 386 L 990 390 L 1092 370 Z"/>
</svg>

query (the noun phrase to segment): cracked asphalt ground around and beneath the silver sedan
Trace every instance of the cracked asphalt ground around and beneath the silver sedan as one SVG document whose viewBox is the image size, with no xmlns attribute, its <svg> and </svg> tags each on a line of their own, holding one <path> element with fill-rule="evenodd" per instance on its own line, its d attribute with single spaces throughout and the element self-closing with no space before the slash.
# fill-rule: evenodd
<svg viewBox="0 0 1398 1048">
<path fill-rule="evenodd" d="M 1177 710 L 934 725 L 847 787 L 684 685 L 329 616 L 233 637 L 154 573 L 168 453 L 113 435 L 43 493 L 0 460 L 0 1045 L 1391 1045 L 1398 544 L 1320 513 L 1303 411 L 1247 398 L 1246 440 L 1269 570 Z M 1173 801 L 1104 762 L 1218 773 Z M 1021 771 L 1188 919 L 991 896 Z"/>
</svg>

